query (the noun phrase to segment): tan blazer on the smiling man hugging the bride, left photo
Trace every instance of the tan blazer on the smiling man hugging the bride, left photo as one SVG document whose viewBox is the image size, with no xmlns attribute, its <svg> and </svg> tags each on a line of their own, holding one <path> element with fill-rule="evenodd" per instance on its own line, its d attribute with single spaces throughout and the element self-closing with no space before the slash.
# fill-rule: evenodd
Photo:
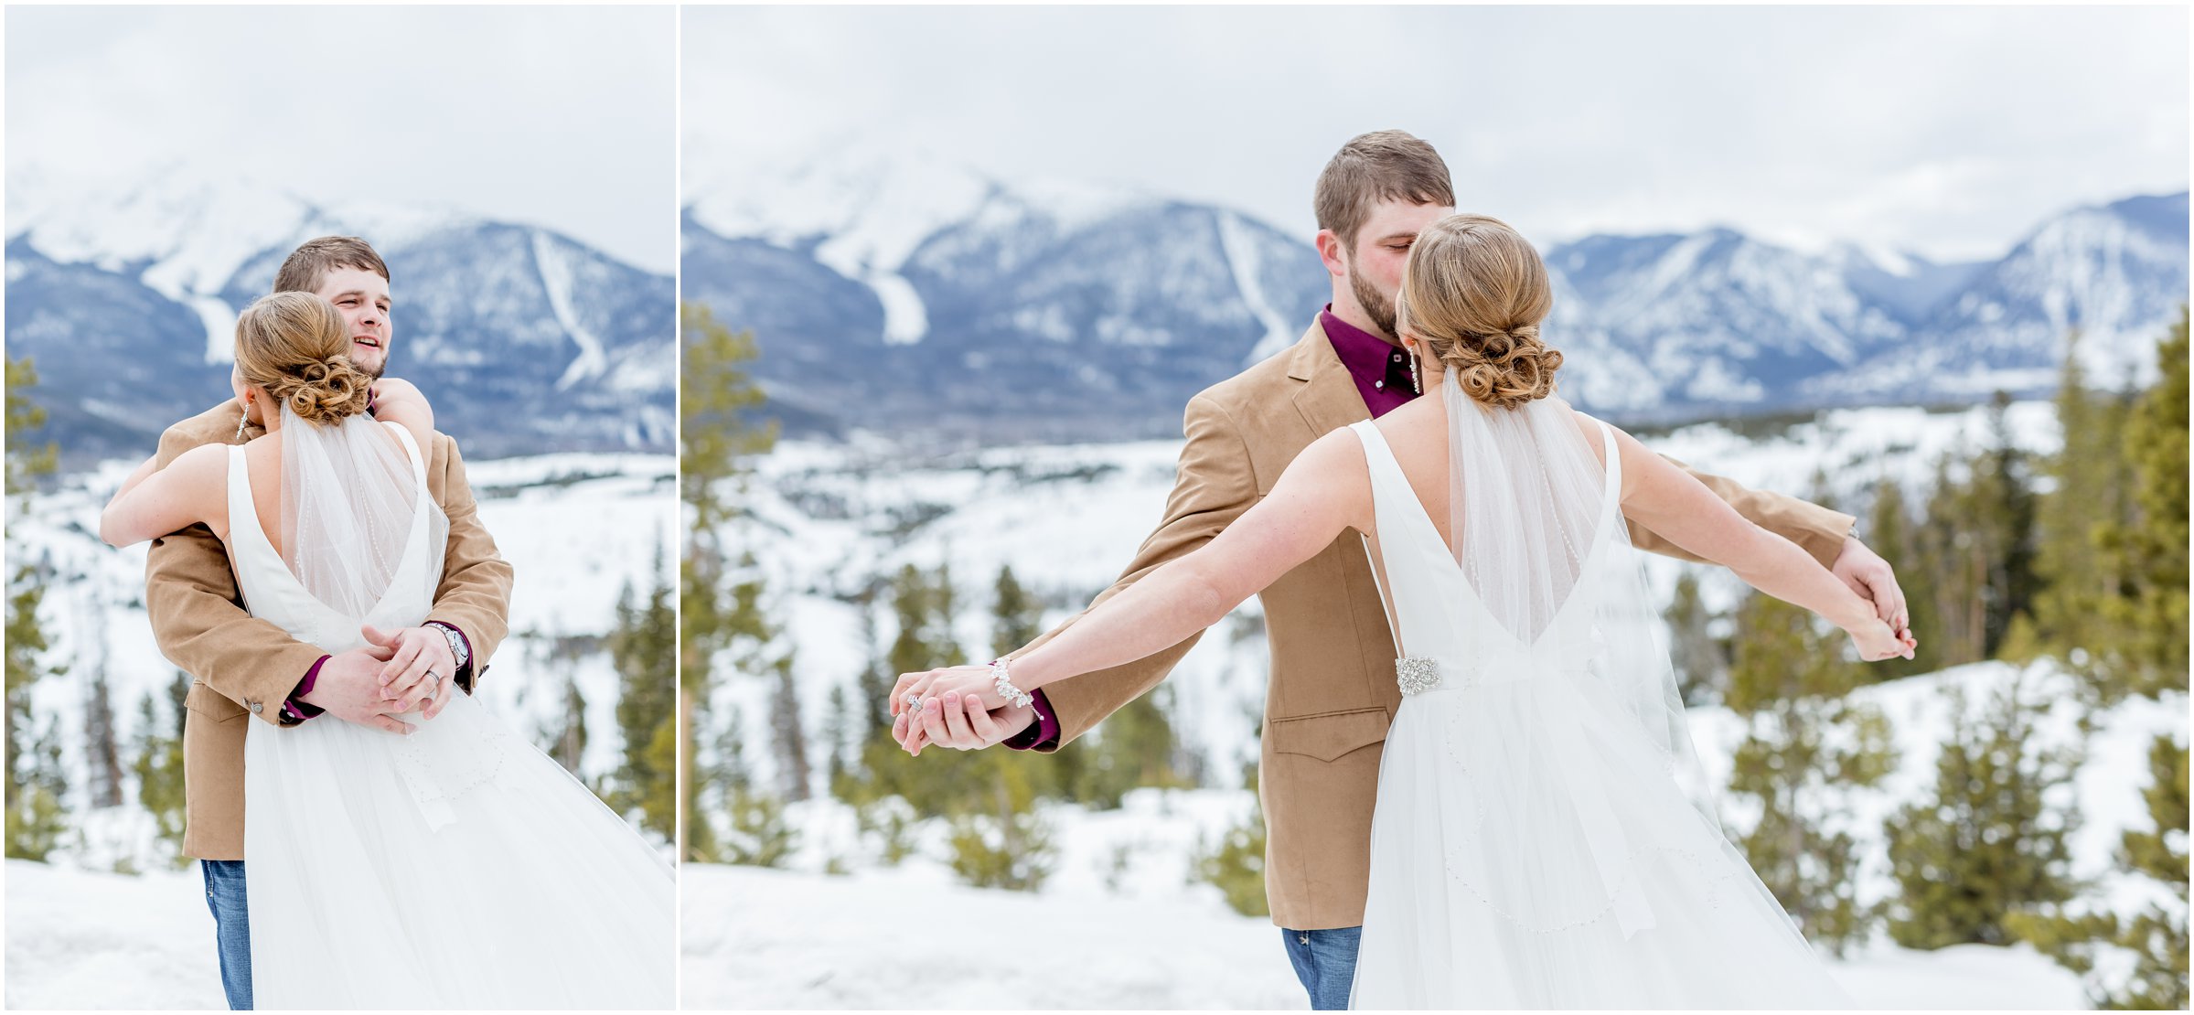
<svg viewBox="0 0 2194 1015">
<path fill-rule="evenodd" d="M 184 419 L 160 434 L 160 465 L 197 445 L 244 443 L 237 438 L 235 399 Z M 450 515 L 434 612 L 465 631 L 472 642 L 472 673 L 487 671 L 487 658 L 509 631 L 511 566 L 496 552 L 480 526 L 478 504 L 465 484 L 465 463 L 450 434 L 434 434 L 428 491 Z M 200 859 L 244 859 L 244 730 L 248 717 L 283 726 L 281 704 L 305 680 L 314 660 L 327 655 L 290 638 L 270 620 L 244 612 L 228 550 L 206 526 L 191 526 L 154 539 L 145 561 L 145 612 L 154 640 L 191 682 L 182 723 L 182 853 Z M 470 693 L 472 686 L 465 686 Z M 336 717 L 312 719 L 338 723 Z M 333 787 L 331 787 L 333 789 Z"/>
</svg>

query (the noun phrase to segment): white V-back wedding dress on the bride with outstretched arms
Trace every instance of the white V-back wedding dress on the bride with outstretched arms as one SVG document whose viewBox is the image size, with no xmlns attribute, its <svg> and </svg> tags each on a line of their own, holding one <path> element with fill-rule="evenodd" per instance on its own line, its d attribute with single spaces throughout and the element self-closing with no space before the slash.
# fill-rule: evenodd
<svg viewBox="0 0 2194 1015">
<path fill-rule="evenodd" d="M 1459 550 L 1378 427 L 1354 425 L 1404 697 L 1349 1004 L 1850 1006 L 1714 818 L 1613 432 L 1602 467 L 1562 399 L 1444 388 Z"/>
</svg>

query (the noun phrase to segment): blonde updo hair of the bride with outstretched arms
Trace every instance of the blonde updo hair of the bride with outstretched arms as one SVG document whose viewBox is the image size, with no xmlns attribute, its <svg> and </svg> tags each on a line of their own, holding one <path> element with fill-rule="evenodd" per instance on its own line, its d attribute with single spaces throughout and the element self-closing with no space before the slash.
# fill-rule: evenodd
<svg viewBox="0 0 2194 1015">
<path fill-rule="evenodd" d="M 1417 232 L 1393 305 L 1395 329 L 1424 342 L 1474 401 L 1516 408 L 1553 395 L 1562 353 L 1538 338 L 1553 285 L 1505 221 L 1448 215 Z"/>
</svg>

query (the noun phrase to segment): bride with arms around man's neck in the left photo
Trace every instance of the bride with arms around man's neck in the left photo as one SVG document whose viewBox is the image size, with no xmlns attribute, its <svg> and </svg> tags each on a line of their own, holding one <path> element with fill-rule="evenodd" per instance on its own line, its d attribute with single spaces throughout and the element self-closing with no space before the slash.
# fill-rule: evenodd
<svg viewBox="0 0 2194 1015">
<path fill-rule="evenodd" d="M 206 524 L 252 616 L 327 653 L 364 647 L 366 627 L 419 625 L 448 537 L 426 487 L 434 414 L 410 384 L 360 373 L 349 346 L 318 296 L 252 303 L 235 386 L 265 436 L 147 460 L 101 537 Z M 250 723 L 257 1004 L 669 1008 L 669 864 L 470 695 L 391 710 L 375 728 Z"/>
</svg>

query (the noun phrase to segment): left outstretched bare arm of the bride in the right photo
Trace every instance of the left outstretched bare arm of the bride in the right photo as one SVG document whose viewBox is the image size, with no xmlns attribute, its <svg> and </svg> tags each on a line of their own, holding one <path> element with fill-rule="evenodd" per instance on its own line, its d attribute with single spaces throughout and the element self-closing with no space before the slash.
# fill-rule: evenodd
<svg viewBox="0 0 2194 1015">
<path fill-rule="evenodd" d="M 1303 449 L 1257 506 L 1187 557 L 1150 572 L 1049 642 L 1014 655 L 1011 680 L 1020 691 L 1141 660 L 1220 623 L 1235 605 L 1281 574 L 1332 546 L 1347 528 L 1371 526 L 1371 480 L 1362 443 L 1336 430 Z M 959 666 L 935 675 L 906 675 L 906 693 L 974 695 L 985 708 L 1005 699 L 989 684 L 987 666 Z"/>
</svg>

